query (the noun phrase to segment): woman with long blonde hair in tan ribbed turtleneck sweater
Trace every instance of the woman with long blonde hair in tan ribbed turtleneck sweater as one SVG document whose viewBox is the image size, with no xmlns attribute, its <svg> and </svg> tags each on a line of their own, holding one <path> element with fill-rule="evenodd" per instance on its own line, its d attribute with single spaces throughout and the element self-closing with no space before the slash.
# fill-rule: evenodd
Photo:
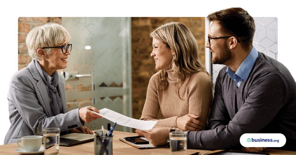
<svg viewBox="0 0 296 155">
<path fill-rule="evenodd" d="M 157 120 L 159 109 L 165 119 L 154 127 L 200 131 L 207 124 L 213 100 L 211 76 L 202 66 L 197 42 L 180 22 L 166 23 L 150 34 L 154 74 L 140 120 Z M 136 130 L 139 133 L 138 130 Z"/>
</svg>

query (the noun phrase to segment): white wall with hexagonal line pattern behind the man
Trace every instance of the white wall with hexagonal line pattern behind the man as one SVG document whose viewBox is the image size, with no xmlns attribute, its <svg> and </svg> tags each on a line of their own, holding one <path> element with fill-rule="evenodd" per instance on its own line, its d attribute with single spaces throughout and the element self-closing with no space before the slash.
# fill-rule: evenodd
<svg viewBox="0 0 296 155">
<path fill-rule="evenodd" d="M 278 61 L 278 18 L 277 17 L 253 17 L 255 22 L 255 33 L 253 46 L 265 55 Z M 213 83 L 219 71 L 225 65 L 212 64 Z"/>
</svg>

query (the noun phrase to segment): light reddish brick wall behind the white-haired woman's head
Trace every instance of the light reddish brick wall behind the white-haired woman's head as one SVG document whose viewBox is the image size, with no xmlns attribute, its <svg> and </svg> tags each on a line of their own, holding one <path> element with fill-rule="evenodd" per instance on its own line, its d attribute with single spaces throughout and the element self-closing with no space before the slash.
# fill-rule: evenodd
<svg viewBox="0 0 296 155">
<path fill-rule="evenodd" d="M 17 19 L 17 70 L 28 66 L 32 61 L 28 55 L 25 40 L 30 30 L 48 22 L 62 24 L 62 17 L 19 17 Z M 59 71 L 60 73 L 60 71 Z"/>
</svg>

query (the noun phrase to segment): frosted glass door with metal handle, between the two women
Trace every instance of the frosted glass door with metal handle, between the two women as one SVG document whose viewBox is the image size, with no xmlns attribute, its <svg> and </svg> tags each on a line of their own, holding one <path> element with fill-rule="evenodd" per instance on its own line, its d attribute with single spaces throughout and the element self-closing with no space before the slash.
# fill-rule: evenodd
<svg viewBox="0 0 296 155">
<path fill-rule="evenodd" d="M 93 77 L 82 77 L 74 81 L 66 81 L 66 94 L 91 91 L 91 83 L 95 90 L 109 88 L 130 87 L 127 68 L 128 40 L 130 40 L 130 19 L 128 17 L 63 17 L 63 27 L 70 33 L 72 44 L 71 54 L 68 55 L 67 68 L 64 72 L 77 71 L 78 74 L 92 74 Z M 85 49 L 91 46 L 91 49 Z M 86 106 L 96 107 L 98 110 L 108 108 L 123 115 L 131 117 L 131 101 L 127 95 L 107 97 L 86 96 L 85 99 L 67 98 L 68 111 Z M 72 97 L 71 97 L 72 98 Z M 131 98 L 131 97 L 130 97 Z M 100 129 L 102 125 L 107 129 L 107 119 L 96 119 L 85 126 L 91 130 Z M 115 130 L 131 131 L 127 127 L 117 125 Z"/>
</svg>

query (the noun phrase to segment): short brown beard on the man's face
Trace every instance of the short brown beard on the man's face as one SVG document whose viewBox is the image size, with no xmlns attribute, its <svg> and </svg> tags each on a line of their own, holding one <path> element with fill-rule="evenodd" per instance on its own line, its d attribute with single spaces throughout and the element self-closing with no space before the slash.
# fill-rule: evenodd
<svg viewBox="0 0 296 155">
<path fill-rule="evenodd" d="M 215 52 L 215 58 L 211 58 L 213 64 L 225 64 L 231 58 L 231 52 L 228 49 L 226 42 L 224 42 L 223 49 L 219 53 Z"/>
</svg>

